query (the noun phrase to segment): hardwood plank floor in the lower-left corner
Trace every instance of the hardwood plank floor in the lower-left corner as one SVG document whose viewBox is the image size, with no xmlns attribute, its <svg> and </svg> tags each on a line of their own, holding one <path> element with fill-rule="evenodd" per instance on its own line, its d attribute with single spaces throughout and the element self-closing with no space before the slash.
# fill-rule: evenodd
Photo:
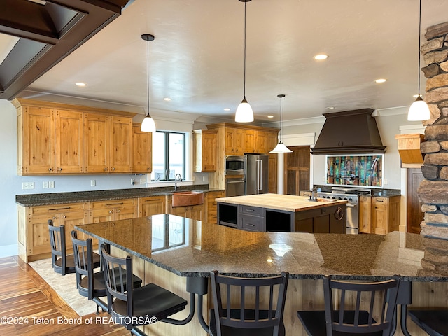
<svg viewBox="0 0 448 336">
<path fill-rule="evenodd" d="M 130 335 L 109 317 L 78 316 L 27 263 L 0 258 L 0 335 Z"/>
</svg>

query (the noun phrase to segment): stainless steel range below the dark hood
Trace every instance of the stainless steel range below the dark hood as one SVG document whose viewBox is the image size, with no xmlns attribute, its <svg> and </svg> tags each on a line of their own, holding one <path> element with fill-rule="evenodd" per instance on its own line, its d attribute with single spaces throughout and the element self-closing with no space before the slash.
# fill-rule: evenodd
<svg viewBox="0 0 448 336">
<path fill-rule="evenodd" d="M 317 197 L 329 198 L 332 200 L 346 200 L 346 233 L 357 235 L 359 231 L 359 195 L 370 195 L 370 190 L 360 188 L 332 187 L 331 192 L 320 191 Z"/>
</svg>

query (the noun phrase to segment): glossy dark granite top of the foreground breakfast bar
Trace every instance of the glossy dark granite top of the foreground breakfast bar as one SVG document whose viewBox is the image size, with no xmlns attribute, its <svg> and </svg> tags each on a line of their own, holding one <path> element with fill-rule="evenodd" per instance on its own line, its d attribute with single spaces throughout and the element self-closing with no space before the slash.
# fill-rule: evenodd
<svg viewBox="0 0 448 336">
<path fill-rule="evenodd" d="M 173 215 L 76 228 L 179 276 L 209 276 L 217 269 L 250 277 L 288 271 L 291 279 L 321 279 L 330 274 L 339 279 L 379 281 L 400 274 L 404 281 L 448 281 L 444 257 L 448 241 L 405 232 L 248 232 Z M 282 248 L 289 250 L 282 255 Z"/>
</svg>

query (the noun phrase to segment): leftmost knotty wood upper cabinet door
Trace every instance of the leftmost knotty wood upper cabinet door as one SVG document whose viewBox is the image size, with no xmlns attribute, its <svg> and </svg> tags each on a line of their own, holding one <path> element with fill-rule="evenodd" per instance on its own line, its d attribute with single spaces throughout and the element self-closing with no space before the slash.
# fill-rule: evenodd
<svg viewBox="0 0 448 336">
<path fill-rule="evenodd" d="M 23 141 L 22 174 L 55 172 L 54 111 L 26 106 L 22 113 L 22 130 L 18 131 L 22 132 Z M 18 144 L 18 148 L 21 148 L 21 144 Z"/>
</svg>

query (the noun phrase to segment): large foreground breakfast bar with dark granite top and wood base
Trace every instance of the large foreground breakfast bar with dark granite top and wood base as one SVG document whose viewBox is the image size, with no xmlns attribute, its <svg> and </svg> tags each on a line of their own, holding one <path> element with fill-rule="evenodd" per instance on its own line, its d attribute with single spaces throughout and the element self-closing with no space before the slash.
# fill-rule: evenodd
<svg viewBox="0 0 448 336">
<path fill-rule="evenodd" d="M 158 283 L 186 300 L 186 279 L 207 278 L 212 269 L 248 277 L 290 272 L 284 315 L 287 335 L 306 335 L 295 311 L 323 309 L 324 274 L 369 281 L 400 274 L 403 281 L 419 281 L 414 284 L 412 307 L 446 303 L 440 293 L 447 289 L 441 281 L 448 281 L 444 271 L 448 241 L 421 235 L 249 232 L 173 215 L 78 225 L 76 229 L 111 244 L 114 255 L 132 255 L 134 272 L 146 283 Z M 202 302 L 205 321 L 211 305 L 208 296 Z M 187 314 L 182 311 L 175 317 Z M 413 323 L 408 325 L 412 335 L 424 335 Z M 145 328 L 150 334 L 149 330 L 157 330 L 157 335 L 206 335 L 197 318 L 183 326 L 158 323 Z"/>
</svg>

